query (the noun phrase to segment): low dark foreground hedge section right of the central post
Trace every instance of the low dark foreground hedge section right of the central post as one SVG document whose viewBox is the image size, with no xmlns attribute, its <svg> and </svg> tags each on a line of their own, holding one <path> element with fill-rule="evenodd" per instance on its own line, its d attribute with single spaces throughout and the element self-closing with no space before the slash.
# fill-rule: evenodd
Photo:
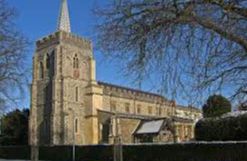
<svg viewBox="0 0 247 161">
<path fill-rule="evenodd" d="M 247 144 L 128 146 L 124 161 L 247 161 Z"/>
</svg>

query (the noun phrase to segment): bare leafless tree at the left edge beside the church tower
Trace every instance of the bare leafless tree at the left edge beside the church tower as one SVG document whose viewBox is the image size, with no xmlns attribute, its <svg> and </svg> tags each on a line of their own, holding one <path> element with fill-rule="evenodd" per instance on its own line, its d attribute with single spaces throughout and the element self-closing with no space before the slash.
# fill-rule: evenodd
<svg viewBox="0 0 247 161">
<path fill-rule="evenodd" d="M 15 9 L 0 0 L 0 108 L 13 103 L 26 85 L 27 40 L 17 30 Z"/>
</svg>

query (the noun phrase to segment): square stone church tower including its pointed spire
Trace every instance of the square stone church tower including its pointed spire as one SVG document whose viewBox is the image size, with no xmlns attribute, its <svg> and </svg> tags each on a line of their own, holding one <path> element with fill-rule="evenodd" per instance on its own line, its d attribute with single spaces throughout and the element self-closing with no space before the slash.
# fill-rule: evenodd
<svg viewBox="0 0 247 161">
<path fill-rule="evenodd" d="M 92 43 L 71 33 L 67 0 L 61 0 L 57 31 L 36 42 L 30 144 L 87 143 L 85 119 L 92 111 L 87 91 L 93 84 L 97 86 Z"/>
</svg>

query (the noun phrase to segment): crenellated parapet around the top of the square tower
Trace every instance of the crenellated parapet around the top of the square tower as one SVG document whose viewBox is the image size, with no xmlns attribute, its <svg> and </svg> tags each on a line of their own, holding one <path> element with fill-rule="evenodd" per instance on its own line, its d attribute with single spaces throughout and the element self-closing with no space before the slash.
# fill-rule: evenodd
<svg viewBox="0 0 247 161">
<path fill-rule="evenodd" d="M 84 48 L 87 50 L 93 49 L 93 45 L 91 41 L 84 39 L 80 36 L 74 35 L 72 33 L 58 31 L 39 39 L 36 42 L 36 51 L 40 51 L 49 46 L 58 45 L 58 44 L 66 44 L 66 45 L 71 44 L 73 46 L 78 46 L 78 48 Z"/>
</svg>

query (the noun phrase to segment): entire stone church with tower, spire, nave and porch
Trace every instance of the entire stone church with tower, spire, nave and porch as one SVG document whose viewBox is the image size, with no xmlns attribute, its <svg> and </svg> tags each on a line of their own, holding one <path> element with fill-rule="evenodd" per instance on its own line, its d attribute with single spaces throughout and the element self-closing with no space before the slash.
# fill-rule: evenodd
<svg viewBox="0 0 247 161">
<path fill-rule="evenodd" d="M 100 82 L 95 68 L 92 43 L 71 33 L 67 1 L 62 0 L 57 31 L 36 42 L 30 144 L 193 139 L 200 110 L 155 93 Z"/>
</svg>

